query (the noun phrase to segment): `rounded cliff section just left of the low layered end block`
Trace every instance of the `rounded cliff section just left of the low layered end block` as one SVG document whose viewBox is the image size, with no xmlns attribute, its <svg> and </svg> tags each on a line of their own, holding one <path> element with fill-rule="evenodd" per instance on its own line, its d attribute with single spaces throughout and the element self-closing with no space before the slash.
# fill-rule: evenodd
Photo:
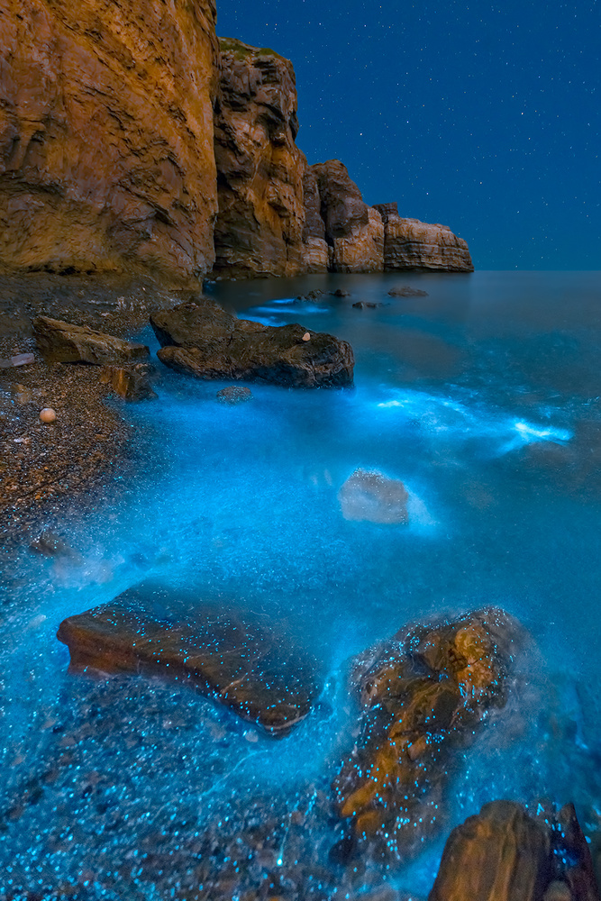
<svg viewBox="0 0 601 901">
<path fill-rule="evenodd" d="M 339 159 L 312 166 L 321 199 L 325 238 L 333 272 L 381 272 L 384 225 L 378 210 L 363 202 L 359 187 Z"/>
</svg>

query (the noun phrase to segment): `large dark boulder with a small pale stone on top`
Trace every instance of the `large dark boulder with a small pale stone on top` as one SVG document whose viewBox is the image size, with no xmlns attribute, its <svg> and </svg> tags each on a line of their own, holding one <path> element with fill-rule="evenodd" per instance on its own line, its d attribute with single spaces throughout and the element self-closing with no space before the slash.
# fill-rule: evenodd
<svg viewBox="0 0 601 901">
<path fill-rule="evenodd" d="M 236 319 L 213 301 L 150 316 L 163 345 L 159 359 L 197 378 L 265 381 L 290 387 L 351 385 L 350 344 L 302 325 L 266 326 Z M 310 341 L 304 336 L 309 334 Z"/>
</svg>

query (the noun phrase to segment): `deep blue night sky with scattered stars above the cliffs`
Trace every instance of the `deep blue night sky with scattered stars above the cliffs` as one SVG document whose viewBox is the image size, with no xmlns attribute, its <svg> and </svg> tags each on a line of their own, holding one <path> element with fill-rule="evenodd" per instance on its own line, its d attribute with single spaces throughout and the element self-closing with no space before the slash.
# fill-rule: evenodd
<svg viewBox="0 0 601 901">
<path fill-rule="evenodd" d="M 601 269 L 601 0 L 217 0 L 295 64 L 309 162 L 480 269 Z"/>
</svg>

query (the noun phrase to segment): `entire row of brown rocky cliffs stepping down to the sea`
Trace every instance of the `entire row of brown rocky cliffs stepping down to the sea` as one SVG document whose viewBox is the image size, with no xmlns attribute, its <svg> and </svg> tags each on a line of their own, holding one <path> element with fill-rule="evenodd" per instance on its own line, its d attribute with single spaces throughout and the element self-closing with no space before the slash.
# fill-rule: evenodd
<svg viewBox="0 0 601 901">
<path fill-rule="evenodd" d="M 471 269 L 296 146 L 296 80 L 215 35 L 214 0 L 5 0 L 0 268 L 170 280 Z"/>
</svg>

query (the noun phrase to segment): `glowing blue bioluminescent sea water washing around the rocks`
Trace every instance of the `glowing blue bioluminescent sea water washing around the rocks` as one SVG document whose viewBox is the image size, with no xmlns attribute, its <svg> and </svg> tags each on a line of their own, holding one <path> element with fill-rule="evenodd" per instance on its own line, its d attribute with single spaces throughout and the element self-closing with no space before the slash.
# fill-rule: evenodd
<svg viewBox="0 0 601 901">
<path fill-rule="evenodd" d="M 387 295 L 399 285 L 429 296 Z M 352 296 L 295 301 L 338 287 Z M 573 800 L 595 842 L 601 276 L 212 291 L 243 316 L 351 341 L 355 386 L 250 385 L 230 407 L 215 398 L 225 383 L 164 369 L 158 401 L 123 406 L 138 476 L 64 523 L 81 559 L 23 549 L 2 608 L 0 898 L 329 901 L 382 880 L 422 898 L 451 828 L 497 798 Z M 156 350 L 150 329 L 141 337 Z M 359 468 L 403 481 L 408 524 L 342 517 L 338 492 Z M 273 739 L 176 683 L 69 675 L 59 623 L 148 579 L 300 643 L 323 682 L 305 720 Z M 509 704 L 457 755 L 441 833 L 395 865 L 332 860 L 332 779 L 357 734 L 351 659 L 408 623 L 485 605 L 532 642 Z M 281 653 L 288 663 L 286 642 Z"/>
</svg>

